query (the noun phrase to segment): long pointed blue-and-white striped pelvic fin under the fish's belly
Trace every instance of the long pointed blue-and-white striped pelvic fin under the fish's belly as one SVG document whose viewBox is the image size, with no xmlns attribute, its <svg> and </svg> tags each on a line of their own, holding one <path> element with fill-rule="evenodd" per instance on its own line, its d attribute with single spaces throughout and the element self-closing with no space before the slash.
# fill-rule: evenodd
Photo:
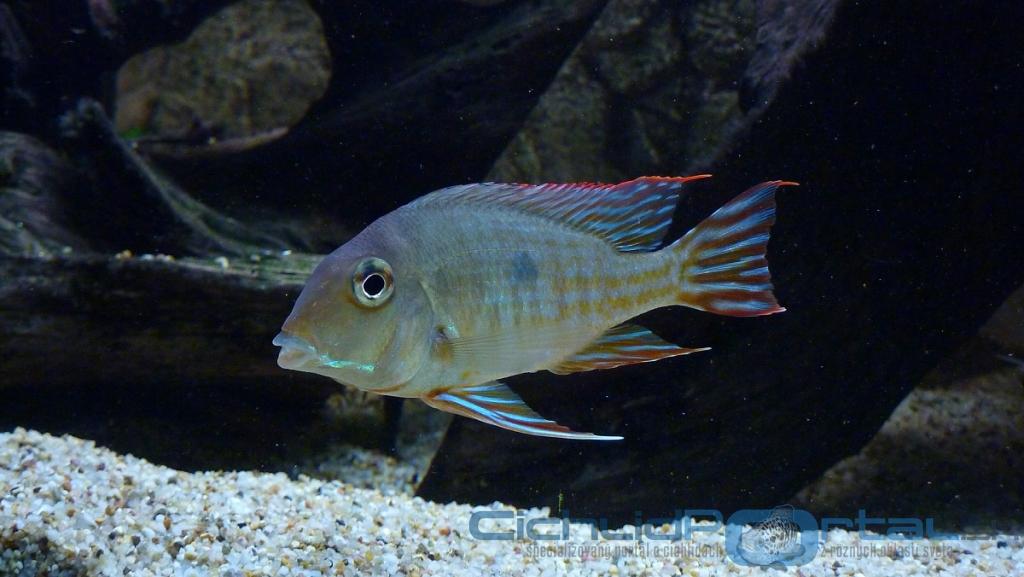
<svg viewBox="0 0 1024 577">
<path fill-rule="evenodd" d="M 435 409 L 471 419 L 539 437 L 578 439 L 584 441 L 621 441 L 622 437 L 606 437 L 593 432 L 577 432 L 537 414 L 508 385 L 485 382 L 462 388 L 450 388 L 423 397 L 423 402 Z"/>
</svg>

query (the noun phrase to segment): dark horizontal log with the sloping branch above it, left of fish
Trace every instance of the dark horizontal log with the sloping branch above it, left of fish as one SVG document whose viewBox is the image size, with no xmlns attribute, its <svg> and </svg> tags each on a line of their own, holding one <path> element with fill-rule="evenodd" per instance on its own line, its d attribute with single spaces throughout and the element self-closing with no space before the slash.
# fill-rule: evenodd
<svg viewBox="0 0 1024 577">
<path fill-rule="evenodd" d="M 98 104 L 62 123 L 65 155 L 0 137 L 0 386 L 280 379 L 270 339 L 321 256 L 191 198 Z"/>
</svg>

